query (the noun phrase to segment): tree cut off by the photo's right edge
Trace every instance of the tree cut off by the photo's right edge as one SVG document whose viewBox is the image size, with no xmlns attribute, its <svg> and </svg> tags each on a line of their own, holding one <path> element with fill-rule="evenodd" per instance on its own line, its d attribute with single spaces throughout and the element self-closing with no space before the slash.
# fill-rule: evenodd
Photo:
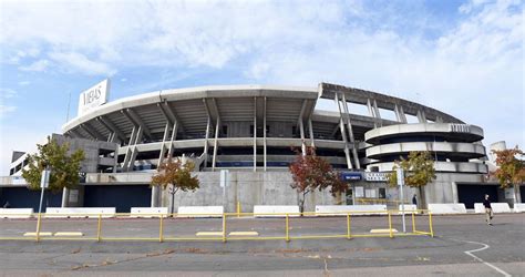
<svg viewBox="0 0 525 277">
<path fill-rule="evenodd" d="M 496 154 L 496 165 L 498 168 L 492 173 L 496 176 L 502 188 L 514 187 L 515 203 L 522 203 L 519 185 L 525 182 L 524 153 L 516 147 L 512 150 L 492 151 Z M 517 158 L 521 157 L 521 158 Z"/>
</svg>

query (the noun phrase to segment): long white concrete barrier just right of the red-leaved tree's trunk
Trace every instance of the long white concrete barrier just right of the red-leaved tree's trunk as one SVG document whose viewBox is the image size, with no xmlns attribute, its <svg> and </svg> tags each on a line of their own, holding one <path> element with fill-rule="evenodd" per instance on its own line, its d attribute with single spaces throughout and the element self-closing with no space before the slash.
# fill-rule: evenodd
<svg viewBox="0 0 525 277">
<path fill-rule="evenodd" d="M 317 216 L 346 216 L 351 215 L 385 215 L 387 205 L 317 205 Z"/>
</svg>

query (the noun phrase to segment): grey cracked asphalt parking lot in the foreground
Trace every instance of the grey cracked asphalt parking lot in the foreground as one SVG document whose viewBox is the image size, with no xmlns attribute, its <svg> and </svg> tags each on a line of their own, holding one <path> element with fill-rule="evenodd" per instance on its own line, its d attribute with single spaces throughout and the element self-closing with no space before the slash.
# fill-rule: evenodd
<svg viewBox="0 0 525 277">
<path fill-rule="evenodd" d="M 411 228 L 410 217 L 406 219 Z M 428 217 L 416 217 L 418 229 Z M 33 232 L 35 220 L 0 219 L 1 236 Z M 68 227 L 66 227 L 68 226 Z M 352 218 L 352 233 L 388 227 L 385 216 Z M 393 218 L 401 230 L 401 220 Z M 435 237 L 401 236 L 222 242 L 0 240 L 2 276 L 525 276 L 525 214 L 434 216 Z M 68 229 L 66 229 L 68 228 Z M 105 237 L 158 236 L 158 219 L 105 219 Z M 167 236 L 219 230 L 222 220 L 167 219 Z M 95 219 L 47 219 L 42 230 L 82 230 Z M 282 218 L 231 218 L 228 230 L 281 236 Z M 290 219 L 290 235 L 344 234 L 341 217 Z"/>
</svg>

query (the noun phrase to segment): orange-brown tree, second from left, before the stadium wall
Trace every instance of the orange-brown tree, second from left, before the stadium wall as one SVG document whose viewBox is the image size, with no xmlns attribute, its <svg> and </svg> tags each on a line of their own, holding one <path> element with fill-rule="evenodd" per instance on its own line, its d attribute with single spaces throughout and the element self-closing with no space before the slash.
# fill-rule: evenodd
<svg viewBox="0 0 525 277">
<path fill-rule="evenodd" d="M 179 158 L 168 158 L 161 164 L 157 174 L 152 177 L 152 186 L 162 186 L 166 189 L 169 186 L 169 194 L 172 195 L 172 213 L 174 211 L 175 194 L 182 192 L 195 192 L 198 188 L 199 182 L 197 177 L 192 177 L 192 171 L 195 167 L 194 163 L 183 163 Z"/>
</svg>

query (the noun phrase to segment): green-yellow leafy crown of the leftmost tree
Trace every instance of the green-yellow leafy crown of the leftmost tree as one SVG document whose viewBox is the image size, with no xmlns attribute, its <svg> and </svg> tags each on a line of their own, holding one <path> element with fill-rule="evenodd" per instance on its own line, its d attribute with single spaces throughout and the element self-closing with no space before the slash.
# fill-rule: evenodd
<svg viewBox="0 0 525 277">
<path fill-rule="evenodd" d="M 29 183 L 30 189 L 40 188 L 42 171 L 48 166 L 51 170 L 49 189 L 52 193 L 61 192 L 64 187 L 72 188 L 80 181 L 80 164 L 84 160 L 84 151 L 76 150 L 71 155 L 69 143 L 59 145 L 48 136 L 48 143 L 37 144 L 38 153 L 28 155 L 28 170 L 22 170 L 22 177 Z"/>
</svg>

